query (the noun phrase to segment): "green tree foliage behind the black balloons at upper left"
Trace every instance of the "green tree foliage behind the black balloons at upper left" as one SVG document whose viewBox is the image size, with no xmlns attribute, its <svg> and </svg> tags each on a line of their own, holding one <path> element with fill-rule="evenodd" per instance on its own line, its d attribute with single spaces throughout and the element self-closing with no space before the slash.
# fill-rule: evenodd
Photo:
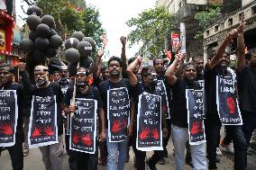
<svg viewBox="0 0 256 170">
<path fill-rule="evenodd" d="M 69 0 L 34 0 L 34 4 L 41 8 L 44 15 L 50 14 L 54 17 L 56 31 L 60 35 L 67 34 L 69 37 L 74 31 L 82 31 L 85 36 L 96 40 L 97 45 L 102 43 L 101 36 L 105 30 L 96 7 L 88 5 L 78 10 Z"/>
</svg>

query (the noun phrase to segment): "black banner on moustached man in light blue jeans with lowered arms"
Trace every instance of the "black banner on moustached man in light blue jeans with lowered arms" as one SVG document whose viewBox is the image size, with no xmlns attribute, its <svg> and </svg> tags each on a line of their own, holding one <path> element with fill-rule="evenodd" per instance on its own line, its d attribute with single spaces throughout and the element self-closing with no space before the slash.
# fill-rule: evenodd
<svg viewBox="0 0 256 170">
<path fill-rule="evenodd" d="M 126 87 L 107 90 L 108 137 L 110 142 L 123 141 L 130 123 L 130 100 Z"/>
</svg>

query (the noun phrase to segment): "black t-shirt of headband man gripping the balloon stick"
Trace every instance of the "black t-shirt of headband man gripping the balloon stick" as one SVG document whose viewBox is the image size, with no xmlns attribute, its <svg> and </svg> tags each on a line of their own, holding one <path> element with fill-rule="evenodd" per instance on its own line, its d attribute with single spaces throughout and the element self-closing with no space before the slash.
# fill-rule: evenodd
<svg viewBox="0 0 256 170">
<path fill-rule="evenodd" d="M 74 87 L 69 87 L 69 89 L 67 90 L 67 93 L 65 95 L 64 98 L 64 103 L 66 105 L 70 105 L 70 101 L 73 97 L 73 91 L 74 91 Z M 100 95 L 98 90 L 96 89 L 96 87 L 93 86 L 89 86 L 87 92 L 85 94 L 82 94 L 78 89 L 76 92 L 76 98 L 84 98 L 84 99 L 94 99 L 97 101 L 97 108 L 102 106 L 102 101 L 100 99 Z"/>
</svg>

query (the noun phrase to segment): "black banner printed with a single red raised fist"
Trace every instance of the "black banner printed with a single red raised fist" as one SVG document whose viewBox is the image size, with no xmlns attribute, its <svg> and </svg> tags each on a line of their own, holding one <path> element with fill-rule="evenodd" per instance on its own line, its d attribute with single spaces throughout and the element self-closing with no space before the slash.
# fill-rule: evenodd
<svg viewBox="0 0 256 170">
<path fill-rule="evenodd" d="M 216 77 L 216 103 L 223 125 L 242 125 L 233 76 Z"/>
</svg>

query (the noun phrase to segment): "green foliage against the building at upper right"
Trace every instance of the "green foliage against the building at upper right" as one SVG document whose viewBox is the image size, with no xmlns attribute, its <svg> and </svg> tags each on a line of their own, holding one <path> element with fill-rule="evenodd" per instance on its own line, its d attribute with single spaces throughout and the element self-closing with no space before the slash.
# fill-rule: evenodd
<svg viewBox="0 0 256 170">
<path fill-rule="evenodd" d="M 195 18 L 199 24 L 198 31 L 196 34 L 197 39 L 204 38 L 204 31 L 207 27 L 214 24 L 222 17 L 221 8 L 210 6 L 208 11 L 199 12 L 196 14 Z"/>
</svg>

